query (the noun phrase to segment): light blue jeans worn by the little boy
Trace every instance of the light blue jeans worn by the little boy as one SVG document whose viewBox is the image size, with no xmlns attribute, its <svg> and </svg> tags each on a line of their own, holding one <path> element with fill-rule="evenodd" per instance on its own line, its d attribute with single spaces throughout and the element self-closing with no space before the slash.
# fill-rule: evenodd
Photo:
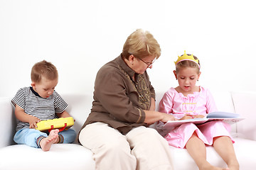
<svg viewBox="0 0 256 170">
<path fill-rule="evenodd" d="M 73 129 L 63 130 L 58 134 L 63 136 L 63 143 L 72 143 L 75 141 L 76 134 L 75 130 Z M 23 128 L 18 130 L 18 132 L 16 132 L 14 135 L 14 142 L 17 144 L 26 144 L 31 147 L 39 148 L 36 140 L 41 136 L 48 137 L 48 134 L 36 129 Z"/>
</svg>

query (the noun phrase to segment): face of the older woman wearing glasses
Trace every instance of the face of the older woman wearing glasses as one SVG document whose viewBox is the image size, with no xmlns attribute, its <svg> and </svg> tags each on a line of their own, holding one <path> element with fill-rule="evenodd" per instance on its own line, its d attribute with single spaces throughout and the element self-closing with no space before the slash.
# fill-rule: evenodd
<svg viewBox="0 0 256 170">
<path fill-rule="evenodd" d="M 137 74 L 144 74 L 147 68 L 151 69 L 152 64 L 155 61 L 154 56 L 144 57 L 143 59 L 139 59 L 138 57 L 134 57 L 132 69 Z"/>
</svg>

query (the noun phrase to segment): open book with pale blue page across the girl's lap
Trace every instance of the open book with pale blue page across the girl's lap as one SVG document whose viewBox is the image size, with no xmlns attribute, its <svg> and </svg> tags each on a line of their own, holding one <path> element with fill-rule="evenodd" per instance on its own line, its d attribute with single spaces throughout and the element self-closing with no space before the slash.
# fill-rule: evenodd
<svg viewBox="0 0 256 170">
<path fill-rule="evenodd" d="M 183 123 L 194 123 L 196 125 L 200 125 L 206 123 L 208 121 L 213 120 L 222 120 L 225 123 L 229 123 L 230 125 L 233 123 L 237 123 L 240 120 L 245 118 L 241 118 L 239 114 L 236 113 L 228 113 L 228 112 L 212 112 L 208 113 L 205 118 L 194 118 L 194 119 L 186 119 L 186 120 L 172 120 L 164 123 L 163 129 L 173 129 L 176 126 L 179 126 Z"/>
</svg>

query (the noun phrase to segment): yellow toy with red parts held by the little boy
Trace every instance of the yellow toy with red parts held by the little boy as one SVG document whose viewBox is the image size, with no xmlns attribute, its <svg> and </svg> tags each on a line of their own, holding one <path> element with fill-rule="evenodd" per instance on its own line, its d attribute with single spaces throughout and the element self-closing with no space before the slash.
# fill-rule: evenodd
<svg viewBox="0 0 256 170">
<path fill-rule="evenodd" d="M 70 126 L 74 125 L 74 119 L 72 117 L 68 118 L 55 118 L 51 120 L 42 120 L 41 122 L 37 123 L 37 130 L 45 131 L 53 129 L 59 129 L 60 132 L 65 130 L 65 128 L 69 128 Z"/>
</svg>

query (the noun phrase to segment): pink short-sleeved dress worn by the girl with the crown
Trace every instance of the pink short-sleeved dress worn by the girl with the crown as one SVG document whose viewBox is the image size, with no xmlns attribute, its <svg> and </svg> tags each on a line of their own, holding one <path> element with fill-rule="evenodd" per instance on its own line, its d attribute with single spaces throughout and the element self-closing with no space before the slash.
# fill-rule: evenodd
<svg viewBox="0 0 256 170">
<path fill-rule="evenodd" d="M 208 89 L 201 86 L 200 92 L 194 92 L 188 96 L 183 96 L 171 88 L 164 94 L 159 103 L 159 112 L 173 114 L 177 119 L 182 118 L 185 114 L 207 115 L 213 111 L 217 111 L 213 96 Z M 196 132 L 206 145 L 213 145 L 213 137 L 228 136 L 233 141 L 229 131 L 230 125 L 222 121 L 210 121 L 202 125 L 184 123 L 171 130 L 164 138 L 169 142 L 169 145 L 184 148 L 193 132 Z"/>
</svg>

